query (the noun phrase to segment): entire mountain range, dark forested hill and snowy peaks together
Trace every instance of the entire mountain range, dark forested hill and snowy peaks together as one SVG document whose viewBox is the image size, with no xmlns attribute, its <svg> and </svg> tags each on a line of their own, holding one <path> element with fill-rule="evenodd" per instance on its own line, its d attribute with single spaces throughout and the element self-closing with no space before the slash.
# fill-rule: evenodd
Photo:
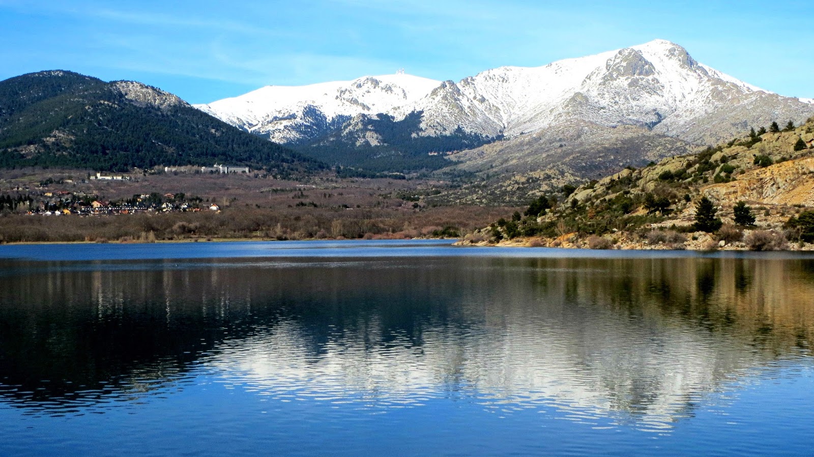
<svg viewBox="0 0 814 457">
<path fill-rule="evenodd" d="M 457 82 L 400 72 L 266 86 L 204 105 L 55 70 L 0 81 L 0 166 L 438 170 L 472 178 L 450 199 L 523 202 L 812 115 L 814 99 L 739 81 L 664 40 Z"/>
</svg>

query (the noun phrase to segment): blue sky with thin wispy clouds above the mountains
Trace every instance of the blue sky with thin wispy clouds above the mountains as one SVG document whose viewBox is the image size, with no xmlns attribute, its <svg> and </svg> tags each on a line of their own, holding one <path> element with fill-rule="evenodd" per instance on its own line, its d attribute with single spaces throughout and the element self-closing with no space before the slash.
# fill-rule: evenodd
<svg viewBox="0 0 814 457">
<path fill-rule="evenodd" d="M 457 81 L 663 38 L 756 86 L 814 98 L 812 17 L 812 0 L 0 0 L 0 79 L 59 68 L 205 103 L 398 68 Z"/>
</svg>

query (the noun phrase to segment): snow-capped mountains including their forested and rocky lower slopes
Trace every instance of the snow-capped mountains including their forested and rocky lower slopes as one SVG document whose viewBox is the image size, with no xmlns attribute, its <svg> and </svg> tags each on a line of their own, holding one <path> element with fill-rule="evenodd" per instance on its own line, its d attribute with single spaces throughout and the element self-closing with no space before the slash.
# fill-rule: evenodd
<svg viewBox="0 0 814 457">
<path fill-rule="evenodd" d="M 396 74 L 267 86 L 195 108 L 342 165 L 355 165 L 343 157 L 360 147 L 370 156 L 456 152 L 450 158 L 470 171 L 554 166 L 567 179 L 686 153 L 751 126 L 799 123 L 814 114 L 812 103 L 739 81 L 675 43 L 654 40 L 457 82 Z M 593 165 L 597 159 L 602 163 Z"/>
</svg>

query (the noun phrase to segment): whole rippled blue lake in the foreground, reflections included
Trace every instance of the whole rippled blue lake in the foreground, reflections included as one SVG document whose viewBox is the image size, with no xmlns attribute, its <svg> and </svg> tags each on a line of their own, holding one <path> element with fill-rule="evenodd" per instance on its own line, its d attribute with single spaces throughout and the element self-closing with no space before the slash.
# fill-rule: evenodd
<svg viewBox="0 0 814 457">
<path fill-rule="evenodd" d="M 0 455 L 811 455 L 814 257 L 0 246 Z"/>
</svg>

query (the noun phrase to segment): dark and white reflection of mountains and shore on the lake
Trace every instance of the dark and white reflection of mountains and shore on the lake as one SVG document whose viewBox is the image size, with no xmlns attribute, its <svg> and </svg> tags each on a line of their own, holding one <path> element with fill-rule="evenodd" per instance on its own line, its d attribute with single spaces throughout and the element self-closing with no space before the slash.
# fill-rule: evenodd
<svg viewBox="0 0 814 457">
<path fill-rule="evenodd" d="M 809 363 L 814 261 L 0 261 L 0 402 L 144 402 L 200 371 L 276 401 L 434 398 L 664 430 L 722 384 Z"/>
</svg>

